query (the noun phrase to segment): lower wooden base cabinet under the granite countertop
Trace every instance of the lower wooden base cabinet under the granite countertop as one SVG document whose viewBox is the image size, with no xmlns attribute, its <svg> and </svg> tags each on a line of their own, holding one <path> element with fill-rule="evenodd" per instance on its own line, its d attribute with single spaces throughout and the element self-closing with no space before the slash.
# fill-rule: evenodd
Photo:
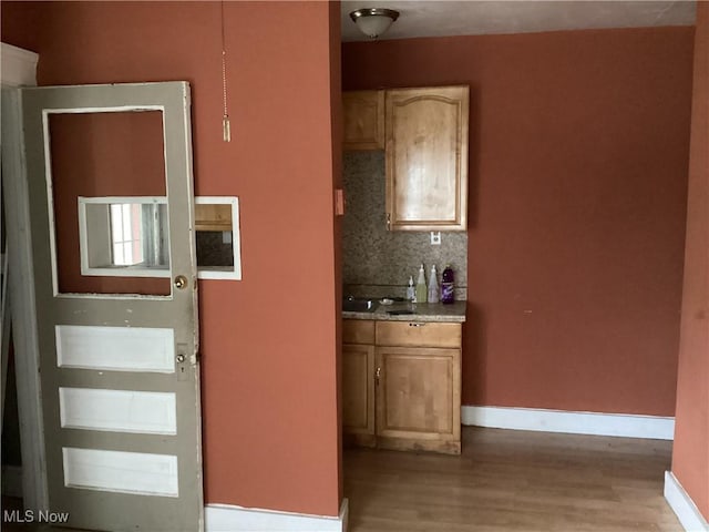
<svg viewBox="0 0 709 532">
<path fill-rule="evenodd" d="M 346 441 L 459 454 L 461 324 L 345 324 Z M 362 334 L 362 329 L 371 332 Z"/>
</svg>

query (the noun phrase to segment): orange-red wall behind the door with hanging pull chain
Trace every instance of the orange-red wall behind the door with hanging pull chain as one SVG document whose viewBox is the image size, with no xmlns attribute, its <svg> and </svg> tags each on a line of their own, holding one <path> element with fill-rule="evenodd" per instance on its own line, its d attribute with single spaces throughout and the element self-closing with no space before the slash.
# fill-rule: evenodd
<svg viewBox="0 0 709 532">
<path fill-rule="evenodd" d="M 219 2 L 1 8 L 40 84 L 191 82 L 196 193 L 239 196 L 244 274 L 199 284 L 206 501 L 337 515 L 331 8 L 224 2 L 232 143 Z"/>
</svg>

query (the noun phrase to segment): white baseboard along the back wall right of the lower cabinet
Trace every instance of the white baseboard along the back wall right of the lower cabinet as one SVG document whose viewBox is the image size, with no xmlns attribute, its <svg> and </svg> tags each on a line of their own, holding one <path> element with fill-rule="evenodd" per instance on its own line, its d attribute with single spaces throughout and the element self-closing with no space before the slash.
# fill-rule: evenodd
<svg viewBox="0 0 709 532">
<path fill-rule="evenodd" d="M 672 440 L 675 418 L 624 413 L 571 412 L 537 408 L 462 407 L 463 424 L 572 434 Z"/>
</svg>

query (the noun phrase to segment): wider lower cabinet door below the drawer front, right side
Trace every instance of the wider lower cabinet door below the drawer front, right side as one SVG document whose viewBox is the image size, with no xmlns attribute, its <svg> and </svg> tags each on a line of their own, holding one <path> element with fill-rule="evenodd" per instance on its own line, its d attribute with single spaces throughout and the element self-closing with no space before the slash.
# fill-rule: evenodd
<svg viewBox="0 0 709 532">
<path fill-rule="evenodd" d="M 460 349 L 377 348 L 380 447 L 460 453 Z"/>
</svg>

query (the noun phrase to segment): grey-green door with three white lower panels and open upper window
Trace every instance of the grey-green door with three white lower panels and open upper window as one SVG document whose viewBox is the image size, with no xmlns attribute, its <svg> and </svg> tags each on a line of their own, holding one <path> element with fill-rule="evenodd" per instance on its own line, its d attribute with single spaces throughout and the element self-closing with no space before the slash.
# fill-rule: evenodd
<svg viewBox="0 0 709 532">
<path fill-rule="evenodd" d="M 49 510 L 69 512 L 66 525 L 80 529 L 202 530 L 189 88 L 168 82 L 25 89 L 22 108 Z M 115 124 L 90 129 L 97 131 L 95 146 L 92 134 L 81 133 L 80 149 L 56 139 L 110 113 L 116 113 L 111 123 L 147 116 L 146 130 L 160 139 L 136 144 L 140 134 Z M 123 133 L 111 136 L 116 131 Z M 114 151 L 130 161 L 112 162 L 105 144 L 123 140 L 130 146 Z M 69 155 L 60 155 L 66 144 Z M 150 162 L 143 155 L 143 147 L 158 144 L 162 172 L 155 171 L 154 152 Z M 112 172 L 114 166 L 121 172 Z M 72 168 L 82 168 L 78 181 Z M 143 168 L 152 168 L 145 177 Z M 143 178 L 146 188 L 127 184 Z M 78 198 L 145 193 L 167 204 L 168 277 L 78 275 Z M 69 259 L 65 246 L 74 246 Z M 179 287 L 171 282 L 177 276 Z M 151 288 L 156 283 L 158 290 Z M 144 415 L 141 406 L 157 411 Z"/>
</svg>

